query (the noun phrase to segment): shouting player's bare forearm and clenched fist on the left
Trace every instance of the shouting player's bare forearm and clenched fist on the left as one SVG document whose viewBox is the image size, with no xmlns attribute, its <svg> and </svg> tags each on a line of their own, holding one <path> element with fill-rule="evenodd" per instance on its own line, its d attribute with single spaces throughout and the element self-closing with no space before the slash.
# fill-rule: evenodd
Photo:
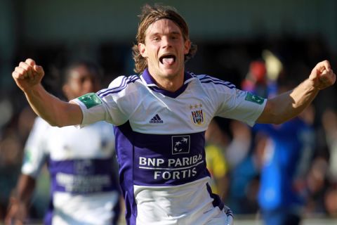
<svg viewBox="0 0 337 225">
<path fill-rule="evenodd" d="M 29 105 L 39 117 L 52 126 L 81 124 L 82 112 L 76 103 L 67 103 L 49 94 L 41 85 L 44 69 L 28 58 L 12 73 L 18 87 L 25 93 Z"/>
</svg>

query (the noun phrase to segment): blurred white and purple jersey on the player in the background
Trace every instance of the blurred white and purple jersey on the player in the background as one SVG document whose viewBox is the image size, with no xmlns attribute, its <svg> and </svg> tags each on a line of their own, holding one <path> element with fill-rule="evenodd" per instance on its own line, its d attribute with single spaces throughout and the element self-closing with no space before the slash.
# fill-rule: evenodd
<svg viewBox="0 0 337 225">
<path fill-rule="evenodd" d="M 51 127 L 37 117 L 22 174 L 36 178 L 47 163 L 51 204 L 44 224 L 116 224 L 119 184 L 112 124 Z"/>
</svg>

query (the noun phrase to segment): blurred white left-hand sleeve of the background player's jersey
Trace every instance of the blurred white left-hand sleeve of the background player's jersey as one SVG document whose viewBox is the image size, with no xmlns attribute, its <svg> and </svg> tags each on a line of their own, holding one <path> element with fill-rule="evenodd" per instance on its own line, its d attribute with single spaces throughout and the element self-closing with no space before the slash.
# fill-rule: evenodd
<svg viewBox="0 0 337 225">
<path fill-rule="evenodd" d="M 25 143 L 25 154 L 22 162 L 21 172 L 36 178 L 42 166 L 48 158 L 45 148 L 45 137 L 48 134 L 50 125 L 40 117 L 34 122 L 34 126 L 29 133 Z"/>
</svg>

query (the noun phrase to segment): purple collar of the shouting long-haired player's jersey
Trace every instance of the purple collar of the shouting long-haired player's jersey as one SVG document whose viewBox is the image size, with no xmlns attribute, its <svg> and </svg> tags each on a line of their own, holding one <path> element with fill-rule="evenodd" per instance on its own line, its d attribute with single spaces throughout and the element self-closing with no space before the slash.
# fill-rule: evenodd
<svg viewBox="0 0 337 225">
<path fill-rule="evenodd" d="M 154 79 L 150 75 L 150 72 L 149 70 L 147 70 L 147 68 L 144 70 L 143 74 L 140 75 L 140 78 L 143 80 L 145 86 L 148 86 L 150 89 L 152 89 L 152 91 L 159 92 L 160 94 L 164 94 L 164 96 L 169 96 L 171 98 L 176 98 L 180 94 L 182 94 L 187 88 L 188 83 L 191 82 L 193 79 L 195 79 L 195 77 L 192 74 L 190 74 L 190 72 L 184 72 L 183 86 L 181 86 L 180 89 L 178 89 L 177 91 L 171 92 L 159 88 L 159 86 L 157 86 L 157 84 L 154 82 Z"/>
</svg>

